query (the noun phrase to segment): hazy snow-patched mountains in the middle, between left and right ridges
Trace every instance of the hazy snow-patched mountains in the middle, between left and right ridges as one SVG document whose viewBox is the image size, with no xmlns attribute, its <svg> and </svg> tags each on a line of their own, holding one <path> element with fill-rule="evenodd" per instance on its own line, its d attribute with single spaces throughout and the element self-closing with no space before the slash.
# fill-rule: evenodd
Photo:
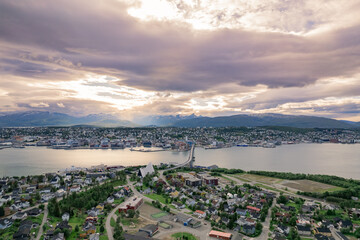
<svg viewBox="0 0 360 240">
<path fill-rule="evenodd" d="M 181 115 L 151 115 L 141 118 L 136 118 L 135 123 L 143 126 L 171 126 L 176 122 L 187 119 L 198 118 L 195 114 L 181 116 Z"/>
</svg>

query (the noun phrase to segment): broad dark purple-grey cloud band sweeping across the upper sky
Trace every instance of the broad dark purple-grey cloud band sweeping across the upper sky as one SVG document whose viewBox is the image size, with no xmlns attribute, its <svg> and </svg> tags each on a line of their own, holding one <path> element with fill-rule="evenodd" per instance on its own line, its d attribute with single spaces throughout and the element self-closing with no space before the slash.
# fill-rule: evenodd
<svg viewBox="0 0 360 240">
<path fill-rule="evenodd" d="M 19 57 L 22 63 L 11 60 L 20 75 L 76 69 L 151 90 L 205 90 L 223 83 L 305 86 L 360 67 L 359 26 L 312 37 L 226 29 L 194 33 L 178 23 L 140 23 L 126 8 L 114 1 L 0 1 L 1 45 L 18 44 L 35 54 Z M 9 64 L 6 56 L 0 61 Z M 48 63 L 58 68 L 41 65 Z"/>
</svg>

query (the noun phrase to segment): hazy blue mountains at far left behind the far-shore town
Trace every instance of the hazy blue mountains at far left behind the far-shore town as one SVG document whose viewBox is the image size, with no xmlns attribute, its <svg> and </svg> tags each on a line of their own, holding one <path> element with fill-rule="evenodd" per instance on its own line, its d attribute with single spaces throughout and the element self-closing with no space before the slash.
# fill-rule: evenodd
<svg viewBox="0 0 360 240">
<path fill-rule="evenodd" d="M 109 114 L 92 114 L 74 117 L 64 113 L 30 111 L 0 116 L 0 127 L 42 127 L 91 125 L 99 127 L 134 127 L 130 121 L 120 120 Z"/>
</svg>

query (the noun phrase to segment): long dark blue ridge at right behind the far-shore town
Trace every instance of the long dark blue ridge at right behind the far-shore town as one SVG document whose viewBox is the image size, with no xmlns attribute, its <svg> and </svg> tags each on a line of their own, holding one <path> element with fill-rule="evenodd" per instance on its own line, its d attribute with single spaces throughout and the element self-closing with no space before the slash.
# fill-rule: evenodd
<svg viewBox="0 0 360 240">
<path fill-rule="evenodd" d="M 260 127 L 285 126 L 296 128 L 355 128 L 349 123 L 324 117 L 293 116 L 282 114 L 233 115 L 226 117 L 198 117 L 177 121 L 175 127 Z"/>
</svg>

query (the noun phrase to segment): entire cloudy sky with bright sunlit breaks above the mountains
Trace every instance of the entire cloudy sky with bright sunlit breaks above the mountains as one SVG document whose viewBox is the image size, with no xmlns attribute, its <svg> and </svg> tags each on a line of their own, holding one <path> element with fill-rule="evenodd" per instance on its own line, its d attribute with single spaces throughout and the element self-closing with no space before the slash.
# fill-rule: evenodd
<svg viewBox="0 0 360 240">
<path fill-rule="evenodd" d="M 358 0 L 0 0 L 0 112 L 360 121 Z"/>
</svg>

